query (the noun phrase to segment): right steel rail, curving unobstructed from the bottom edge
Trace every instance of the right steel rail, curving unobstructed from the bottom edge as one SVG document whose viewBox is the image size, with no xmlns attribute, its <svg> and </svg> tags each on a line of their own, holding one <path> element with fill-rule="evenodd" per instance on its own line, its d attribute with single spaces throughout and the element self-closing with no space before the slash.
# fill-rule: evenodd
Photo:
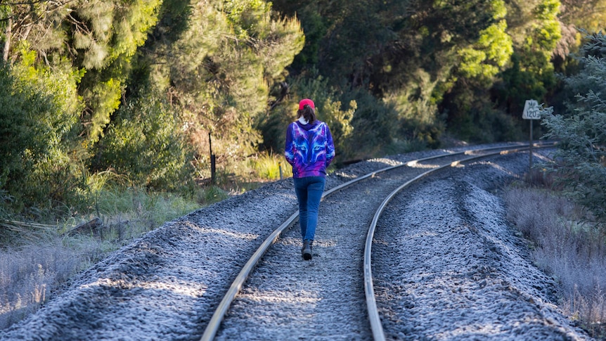
<svg viewBox="0 0 606 341">
<path fill-rule="evenodd" d="M 535 148 L 548 148 L 548 147 L 553 147 L 553 146 L 555 146 L 555 143 L 534 145 Z M 502 148 L 502 149 L 505 149 L 505 148 Z M 404 184 L 402 184 L 398 188 L 394 189 L 394 191 L 392 191 L 392 193 L 387 195 L 387 198 L 385 198 L 385 200 L 383 200 L 383 202 L 381 203 L 381 205 L 375 212 L 373 221 L 370 222 L 370 226 L 368 227 L 368 233 L 366 234 L 366 243 L 364 244 L 364 264 L 363 264 L 364 294 L 366 295 L 366 307 L 368 308 L 367 309 L 368 310 L 368 320 L 370 321 L 370 328 L 373 332 L 373 339 L 375 341 L 385 341 L 385 333 L 383 332 L 383 326 L 381 324 L 381 319 L 380 319 L 378 308 L 377 308 L 377 301 L 375 299 L 375 289 L 373 286 L 373 271 L 372 271 L 372 263 L 371 263 L 372 257 L 371 256 L 372 256 L 372 247 L 373 247 L 373 238 L 375 235 L 375 229 L 377 227 L 377 223 L 378 223 L 378 220 L 379 220 L 381 214 L 385 210 L 385 207 L 387 207 L 387 204 L 394 198 L 395 195 L 397 195 L 399 192 L 401 192 L 404 188 L 411 186 L 411 184 L 414 184 L 416 181 L 424 178 L 425 176 L 427 176 L 429 174 L 432 174 L 433 172 L 437 172 L 440 169 L 444 169 L 446 167 L 456 167 L 457 165 L 459 165 L 463 162 L 468 162 L 470 160 L 476 160 L 476 159 L 490 157 L 490 156 L 494 156 L 494 155 L 505 155 L 508 153 L 518 153 L 520 151 L 529 150 L 529 149 L 530 149 L 530 146 L 527 144 L 527 146 L 525 146 L 523 148 L 507 149 L 507 150 L 503 150 L 501 152 L 475 155 L 472 157 L 467 157 L 462 160 L 457 160 L 455 162 L 451 162 L 448 165 L 442 165 L 442 166 L 430 169 L 427 172 L 423 172 L 422 174 L 415 176 L 413 179 L 406 181 Z M 410 162 L 408 162 L 408 163 L 410 163 Z"/>
</svg>

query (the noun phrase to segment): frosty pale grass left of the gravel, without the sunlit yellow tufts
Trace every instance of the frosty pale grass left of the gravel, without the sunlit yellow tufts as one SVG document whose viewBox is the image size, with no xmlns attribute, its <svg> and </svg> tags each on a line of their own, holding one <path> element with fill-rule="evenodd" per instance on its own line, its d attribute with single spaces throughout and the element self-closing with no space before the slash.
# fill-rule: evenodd
<svg viewBox="0 0 606 341">
<path fill-rule="evenodd" d="M 97 180 L 100 179 L 105 181 L 106 177 L 100 176 Z M 70 216 L 55 217 L 59 221 L 56 224 L 8 220 L 8 214 L 3 214 L 0 217 L 0 329 L 32 314 L 51 295 L 58 293 L 71 276 L 109 252 L 165 221 L 227 196 L 217 187 L 198 188 L 195 193 L 183 196 L 104 183 L 96 187 L 94 195 L 89 195 L 90 201 L 83 203 L 79 210 L 72 208 Z M 70 233 L 75 226 L 93 217 L 103 221 L 96 231 Z"/>
</svg>

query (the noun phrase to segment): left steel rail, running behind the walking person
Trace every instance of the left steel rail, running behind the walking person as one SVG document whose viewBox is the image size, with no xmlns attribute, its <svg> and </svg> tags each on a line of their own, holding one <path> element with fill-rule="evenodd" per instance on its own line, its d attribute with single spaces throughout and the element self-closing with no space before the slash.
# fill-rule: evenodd
<svg viewBox="0 0 606 341">
<path fill-rule="evenodd" d="M 379 174 L 382 172 L 387 172 L 392 169 L 397 169 L 399 167 L 404 167 L 404 166 L 410 167 L 412 165 L 415 165 L 418 162 L 437 159 L 440 157 L 449 157 L 449 156 L 461 155 L 461 154 L 469 155 L 470 153 L 477 153 L 477 152 L 482 152 L 482 151 L 487 151 L 487 150 L 496 150 L 496 149 L 510 150 L 510 149 L 520 148 L 520 147 L 528 146 L 528 145 L 529 145 L 528 143 L 520 143 L 520 144 L 514 145 L 514 146 L 500 146 L 500 147 L 490 147 L 490 148 L 479 148 L 479 149 L 474 149 L 474 150 L 463 150 L 463 151 L 455 152 L 455 153 L 439 154 L 439 155 L 433 155 L 430 157 L 424 157 L 424 158 L 418 159 L 418 160 L 411 160 L 406 163 L 402 163 L 401 165 L 394 165 L 391 167 L 385 167 L 382 169 L 378 169 L 378 170 L 376 170 L 374 172 L 370 172 L 366 175 L 359 176 L 356 179 L 347 181 L 344 184 L 340 184 L 339 186 L 335 186 L 334 188 L 331 188 L 330 190 L 325 191 L 322 194 L 321 200 L 324 200 L 326 197 L 328 197 L 328 195 L 332 195 L 334 193 L 337 193 L 338 191 L 342 191 L 343 189 L 348 188 L 349 186 L 352 186 L 352 185 L 358 183 L 359 181 L 368 179 L 368 178 L 373 177 L 376 174 Z M 536 146 L 538 146 L 538 148 L 541 148 L 542 145 L 536 145 Z M 281 224 L 281 226 L 278 227 L 278 229 L 273 231 L 263 241 L 263 243 L 261 243 L 261 245 L 259 245 L 259 248 L 257 248 L 257 251 L 255 251 L 254 254 L 252 254 L 250 259 L 248 259 L 248 262 L 246 262 L 246 264 L 240 270 L 240 273 L 233 280 L 233 283 L 231 284 L 230 288 L 224 295 L 223 300 L 221 300 L 221 302 L 217 306 L 217 309 L 215 309 L 214 314 L 212 314 L 212 317 L 211 317 L 207 327 L 205 328 L 204 333 L 202 334 L 202 337 L 200 338 L 200 341 L 214 340 L 214 337 L 215 337 L 215 335 L 217 335 L 217 331 L 219 330 L 219 326 L 221 325 L 221 322 L 223 321 L 225 315 L 227 314 L 227 311 L 228 311 L 229 307 L 231 306 L 231 303 L 233 302 L 233 300 L 236 299 L 236 295 L 238 295 L 238 293 L 242 289 L 242 286 L 246 282 L 246 280 L 247 280 L 248 276 L 250 275 L 250 273 L 252 272 L 252 270 L 254 270 L 255 266 L 257 266 L 257 264 L 259 263 L 259 260 L 261 259 L 261 257 L 263 257 L 263 255 L 269 249 L 269 247 L 271 247 L 271 245 L 273 245 L 273 243 L 275 243 L 276 240 L 278 240 L 278 238 L 280 238 L 281 234 L 286 229 L 290 228 L 290 226 L 292 226 L 292 224 L 295 223 L 295 221 L 298 217 L 299 217 L 299 212 L 297 210 L 297 212 L 293 213 L 286 221 L 284 221 L 283 224 Z M 376 306 L 376 303 L 375 303 L 375 306 Z"/>
</svg>

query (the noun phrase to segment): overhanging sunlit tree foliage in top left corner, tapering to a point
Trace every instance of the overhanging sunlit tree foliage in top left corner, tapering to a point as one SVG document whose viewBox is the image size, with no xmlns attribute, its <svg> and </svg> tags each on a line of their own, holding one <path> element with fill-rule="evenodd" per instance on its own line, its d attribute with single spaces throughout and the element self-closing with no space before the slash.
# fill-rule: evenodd
<svg viewBox="0 0 606 341">
<path fill-rule="evenodd" d="M 103 135 L 120 104 L 131 57 L 157 20 L 160 0 L 34 1 L 10 4 L 13 14 L 9 58 L 20 58 L 20 43 L 37 51 L 36 63 L 86 70 L 79 94 L 89 146 Z M 4 18 L 4 17 L 3 17 Z M 3 31 L 4 32 L 4 31 Z M 20 39 L 20 40 L 17 40 Z"/>
</svg>

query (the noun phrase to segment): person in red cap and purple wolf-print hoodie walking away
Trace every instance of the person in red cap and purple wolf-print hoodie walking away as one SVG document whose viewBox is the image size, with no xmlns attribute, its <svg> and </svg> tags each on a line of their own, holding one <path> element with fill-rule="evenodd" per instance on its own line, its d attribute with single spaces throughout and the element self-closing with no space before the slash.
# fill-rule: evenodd
<svg viewBox="0 0 606 341">
<path fill-rule="evenodd" d="M 292 165 L 292 180 L 299 202 L 299 225 L 303 238 L 301 255 L 309 260 L 318 225 L 326 168 L 335 157 L 330 129 L 325 122 L 316 119 L 316 106 L 309 98 L 299 102 L 297 120 L 288 125 L 284 154 Z"/>
</svg>

